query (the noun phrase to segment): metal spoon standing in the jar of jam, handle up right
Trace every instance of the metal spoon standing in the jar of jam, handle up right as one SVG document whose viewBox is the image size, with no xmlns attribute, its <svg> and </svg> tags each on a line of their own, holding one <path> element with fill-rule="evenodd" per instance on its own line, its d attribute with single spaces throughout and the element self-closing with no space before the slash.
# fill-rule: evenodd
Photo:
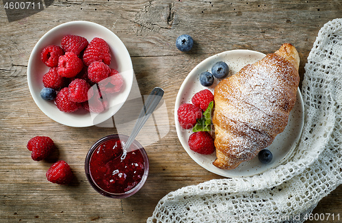
<svg viewBox="0 0 342 223">
<path fill-rule="evenodd" d="M 137 121 L 135 122 L 135 125 L 133 127 L 132 133 L 129 136 L 129 139 L 126 143 L 122 144 L 122 156 L 121 160 L 123 160 L 127 152 L 129 152 L 129 146 L 131 146 L 132 142 L 134 141 L 135 137 L 137 136 L 137 133 L 140 132 L 150 115 L 153 113 L 157 105 L 159 104 L 159 101 L 163 97 L 164 91 L 161 88 L 154 88 L 152 92 L 150 92 L 150 95 L 148 95 L 148 98 L 146 99 L 144 103 L 144 107 L 142 107 L 142 111 L 139 114 L 139 117 L 137 118 Z"/>
</svg>

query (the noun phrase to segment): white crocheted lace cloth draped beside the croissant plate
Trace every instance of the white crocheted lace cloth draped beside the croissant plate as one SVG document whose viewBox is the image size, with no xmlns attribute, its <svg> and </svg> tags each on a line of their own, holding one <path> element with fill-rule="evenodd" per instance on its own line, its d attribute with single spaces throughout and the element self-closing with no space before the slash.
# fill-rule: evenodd
<svg viewBox="0 0 342 223">
<path fill-rule="evenodd" d="M 147 222 L 307 220 L 317 202 L 342 183 L 340 66 L 342 18 L 337 18 L 321 28 L 308 55 L 302 83 L 305 124 L 290 159 L 261 175 L 215 179 L 170 192 Z"/>
</svg>

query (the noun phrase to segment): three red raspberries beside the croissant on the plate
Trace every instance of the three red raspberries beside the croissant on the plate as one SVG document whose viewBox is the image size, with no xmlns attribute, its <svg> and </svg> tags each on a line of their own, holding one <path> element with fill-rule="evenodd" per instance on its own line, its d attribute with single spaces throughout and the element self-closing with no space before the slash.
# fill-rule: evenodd
<svg viewBox="0 0 342 223">
<path fill-rule="evenodd" d="M 192 129 L 209 103 L 213 101 L 213 93 L 210 90 L 201 90 L 192 96 L 192 103 L 184 103 L 179 106 L 177 116 L 183 129 Z M 189 148 L 196 153 L 209 155 L 215 151 L 214 140 L 208 131 L 196 131 L 189 136 Z"/>
</svg>

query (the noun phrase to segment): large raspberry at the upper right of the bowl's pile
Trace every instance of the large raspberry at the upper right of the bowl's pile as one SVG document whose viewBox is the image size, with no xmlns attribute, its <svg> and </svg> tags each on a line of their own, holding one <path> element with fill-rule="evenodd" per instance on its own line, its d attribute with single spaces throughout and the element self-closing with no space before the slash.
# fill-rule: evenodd
<svg viewBox="0 0 342 223">
<path fill-rule="evenodd" d="M 107 42 L 97 37 L 90 41 L 88 47 L 83 52 L 83 62 L 86 66 L 90 66 L 94 61 L 102 61 L 107 65 L 111 62 L 111 54 Z"/>
</svg>

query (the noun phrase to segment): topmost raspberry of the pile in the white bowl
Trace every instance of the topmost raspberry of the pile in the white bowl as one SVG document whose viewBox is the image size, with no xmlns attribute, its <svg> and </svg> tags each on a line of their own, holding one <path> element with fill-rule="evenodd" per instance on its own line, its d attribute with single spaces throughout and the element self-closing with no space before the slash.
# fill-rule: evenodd
<svg viewBox="0 0 342 223">
<path fill-rule="evenodd" d="M 66 35 L 61 41 L 64 52 L 73 52 L 79 55 L 88 46 L 88 40 L 81 36 Z"/>
</svg>

